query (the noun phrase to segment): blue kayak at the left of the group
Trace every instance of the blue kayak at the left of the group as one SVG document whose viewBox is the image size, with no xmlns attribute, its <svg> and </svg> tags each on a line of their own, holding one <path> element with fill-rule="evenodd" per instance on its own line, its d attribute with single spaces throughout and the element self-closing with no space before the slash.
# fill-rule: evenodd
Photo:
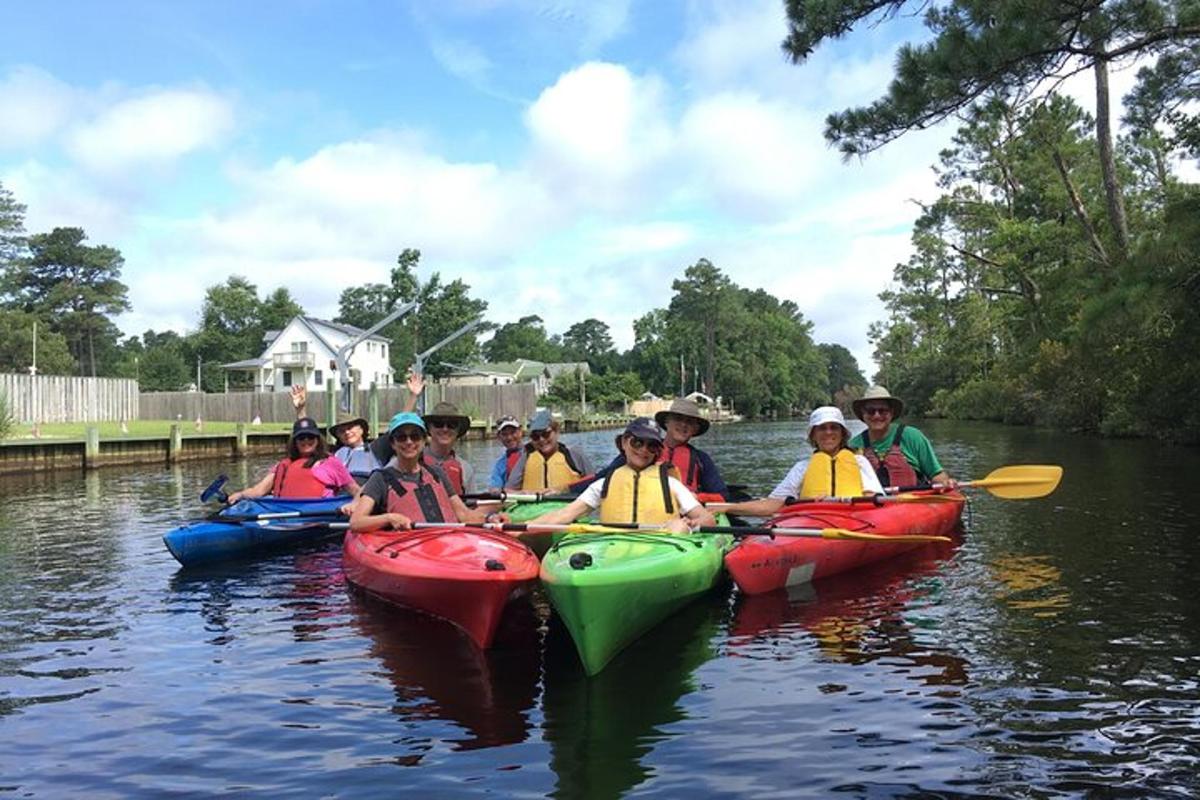
<svg viewBox="0 0 1200 800">
<path fill-rule="evenodd" d="M 341 535 L 348 497 L 316 500 L 253 498 L 239 500 L 202 522 L 167 531 L 162 541 L 184 566 L 236 559 L 251 553 Z"/>
</svg>

